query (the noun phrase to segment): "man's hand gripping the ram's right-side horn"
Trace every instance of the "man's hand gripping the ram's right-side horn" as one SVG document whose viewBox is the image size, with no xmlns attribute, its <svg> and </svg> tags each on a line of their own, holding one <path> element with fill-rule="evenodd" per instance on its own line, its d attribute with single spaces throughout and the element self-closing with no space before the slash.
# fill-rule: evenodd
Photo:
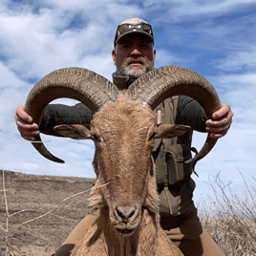
<svg viewBox="0 0 256 256">
<path fill-rule="evenodd" d="M 208 119 L 206 124 L 206 132 L 210 134 L 210 137 L 214 139 L 219 139 L 224 137 L 227 133 L 231 123 L 233 112 L 230 106 L 227 104 L 222 104 L 222 108 L 213 113 L 212 119 Z"/>
</svg>

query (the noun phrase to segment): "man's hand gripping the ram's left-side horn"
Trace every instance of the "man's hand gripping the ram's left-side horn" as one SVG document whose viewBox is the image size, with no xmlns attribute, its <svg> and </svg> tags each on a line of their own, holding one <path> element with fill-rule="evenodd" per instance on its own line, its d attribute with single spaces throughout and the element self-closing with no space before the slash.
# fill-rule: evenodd
<svg viewBox="0 0 256 256">
<path fill-rule="evenodd" d="M 40 117 L 40 122 L 43 117 L 44 112 Z M 17 108 L 14 118 L 21 137 L 33 140 L 35 136 L 39 135 L 39 126 L 34 123 L 32 117 L 25 112 L 24 105 Z"/>
</svg>

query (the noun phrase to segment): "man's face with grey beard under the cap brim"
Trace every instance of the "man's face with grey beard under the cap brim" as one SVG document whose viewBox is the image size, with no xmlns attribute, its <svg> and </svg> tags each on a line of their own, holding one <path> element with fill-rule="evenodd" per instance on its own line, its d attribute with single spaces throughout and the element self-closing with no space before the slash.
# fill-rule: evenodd
<svg viewBox="0 0 256 256">
<path fill-rule="evenodd" d="M 124 36 L 112 52 L 117 69 L 137 77 L 154 68 L 155 56 L 153 43 L 141 35 Z"/>
</svg>

